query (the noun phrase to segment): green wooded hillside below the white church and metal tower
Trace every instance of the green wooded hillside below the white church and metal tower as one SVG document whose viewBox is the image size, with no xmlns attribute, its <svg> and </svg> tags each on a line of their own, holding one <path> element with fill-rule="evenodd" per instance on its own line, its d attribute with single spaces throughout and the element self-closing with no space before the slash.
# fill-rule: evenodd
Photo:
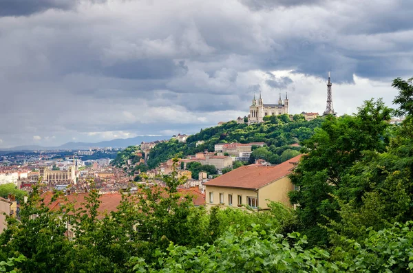
<svg viewBox="0 0 413 273">
<path fill-rule="evenodd" d="M 251 124 L 250 126 L 247 124 L 237 124 L 233 120 L 220 126 L 201 129 L 199 133 L 187 138 L 186 143 L 178 142 L 177 140 L 160 143 L 151 149 L 147 164 L 149 168 L 155 168 L 161 162 L 165 162 L 172 157 L 184 157 L 205 150 L 214 151 L 215 144 L 231 142 L 266 142 L 268 147 L 260 150 L 261 152 L 266 150 L 268 156 L 260 158 L 277 164 L 280 160 L 278 156 L 281 156 L 281 153 L 287 148 L 297 150 L 297 148 L 284 147 L 281 151 L 277 150 L 277 148 L 307 140 L 314 134 L 314 129 L 320 127 L 324 119 L 317 118 L 306 121 L 304 116 L 295 115 L 293 120 L 290 120 L 288 115 L 281 115 L 267 116 L 264 120 L 266 122 Z M 204 143 L 196 146 L 198 141 L 203 141 Z"/>
</svg>

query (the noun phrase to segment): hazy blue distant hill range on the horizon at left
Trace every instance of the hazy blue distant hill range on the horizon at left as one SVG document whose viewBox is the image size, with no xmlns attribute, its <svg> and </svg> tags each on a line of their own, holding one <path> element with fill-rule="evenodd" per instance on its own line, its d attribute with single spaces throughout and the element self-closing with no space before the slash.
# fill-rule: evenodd
<svg viewBox="0 0 413 273">
<path fill-rule="evenodd" d="M 34 150 L 87 150 L 90 147 L 112 147 L 112 148 L 125 148 L 127 146 L 139 145 L 142 141 L 151 142 L 155 140 L 169 140 L 169 135 L 142 135 L 135 138 L 117 138 L 115 140 L 107 140 L 96 143 L 89 142 L 67 142 L 61 146 L 45 147 L 39 145 L 25 145 L 15 146 L 8 149 L 0 149 L 0 151 L 34 151 Z"/>
</svg>

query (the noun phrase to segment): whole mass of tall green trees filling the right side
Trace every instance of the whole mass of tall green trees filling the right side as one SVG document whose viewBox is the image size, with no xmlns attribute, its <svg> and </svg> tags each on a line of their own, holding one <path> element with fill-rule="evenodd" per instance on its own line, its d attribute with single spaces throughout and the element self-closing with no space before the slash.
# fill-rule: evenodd
<svg viewBox="0 0 413 273">
<path fill-rule="evenodd" d="M 307 154 L 291 177 L 300 190 L 299 230 L 313 245 L 337 245 L 341 236 L 364 239 L 368 227 L 380 230 L 413 219 L 413 140 L 410 82 L 401 90 L 396 113 L 407 115 L 391 126 L 391 109 L 366 101 L 356 116 L 330 117 L 304 142 Z"/>
</svg>

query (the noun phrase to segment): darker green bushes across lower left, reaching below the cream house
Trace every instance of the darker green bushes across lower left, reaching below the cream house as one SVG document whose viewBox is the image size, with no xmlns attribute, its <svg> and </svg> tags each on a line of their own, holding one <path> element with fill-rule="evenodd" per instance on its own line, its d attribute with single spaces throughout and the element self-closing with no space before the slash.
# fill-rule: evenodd
<svg viewBox="0 0 413 273">
<path fill-rule="evenodd" d="M 203 206 L 193 206 L 191 195 L 178 193 L 184 178 L 176 175 L 173 171 L 164 177 L 166 187 L 140 184 L 138 193 L 123 195 L 118 210 L 107 215 L 98 214 L 99 194 L 93 187 L 80 207 L 61 203 L 57 210 L 50 210 L 35 187 L 22 204 L 20 221 L 7 219 L 0 261 L 23 254 L 23 272 L 128 272 L 131 256 L 156 261 L 156 252 L 166 251 L 170 243 L 189 248 L 211 244 L 232 225 L 251 230 L 258 223 L 278 232 L 293 225 L 293 213 L 279 204 L 260 214 L 219 208 L 207 213 Z M 64 199 L 59 193 L 56 198 Z M 69 229 L 73 241 L 67 240 Z"/>
</svg>

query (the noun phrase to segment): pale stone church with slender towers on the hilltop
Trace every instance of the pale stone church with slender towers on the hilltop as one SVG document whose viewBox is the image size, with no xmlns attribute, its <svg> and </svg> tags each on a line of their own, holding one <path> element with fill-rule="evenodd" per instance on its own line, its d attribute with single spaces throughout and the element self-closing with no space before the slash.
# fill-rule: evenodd
<svg viewBox="0 0 413 273">
<path fill-rule="evenodd" d="M 250 106 L 250 111 L 248 114 L 248 125 L 263 122 L 264 116 L 278 116 L 284 113 L 290 113 L 287 94 L 285 100 L 282 100 L 281 94 L 279 94 L 277 105 L 264 105 L 260 91 L 260 98 L 257 100 L 255 99 L 254 95 L 253 104 Z"/>
</svg>

